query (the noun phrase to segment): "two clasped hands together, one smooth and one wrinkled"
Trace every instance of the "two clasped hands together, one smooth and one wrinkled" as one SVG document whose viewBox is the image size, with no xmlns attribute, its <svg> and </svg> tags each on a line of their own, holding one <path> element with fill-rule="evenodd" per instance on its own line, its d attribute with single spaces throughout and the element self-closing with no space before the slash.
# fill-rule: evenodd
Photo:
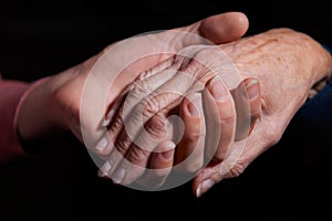
<svg viewBox="0 0 332 221">
<path fill-rule="evenodd" d="M 100 176 L 151 189 L 189 173 L 200 196 L 276 144 L 331 74 L 331 55 L 310 36 L 241 38 L 247 29 L 230 12 L 114 43 L 38 88 L 52 104 L 48 119 L 103 159 Z M 23 123 L 22 136 L 39 133 Z"/>
</svg>

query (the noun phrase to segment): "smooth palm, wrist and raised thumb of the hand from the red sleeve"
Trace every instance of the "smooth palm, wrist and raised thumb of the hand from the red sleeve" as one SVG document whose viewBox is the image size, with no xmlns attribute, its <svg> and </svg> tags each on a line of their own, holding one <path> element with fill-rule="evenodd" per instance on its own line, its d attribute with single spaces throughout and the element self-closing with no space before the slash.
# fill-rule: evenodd
<svg viewBox="0 0 332 221">
<path fill-rule="evenodd" d="M 19 134 L 22 139 L 35 139 L 59 130 L 71 130 L 89 149 L 103 157 L 102 151 L 94 149 L 106 129 L 101 123 L 108 105 L 137 78 L 139 73 L 163 63 L 186 46 L 238 40 L 247 29 L 248 19 L 243 13 L 227 12 L 187 27 L 124 40 L 129 43 L 121 49 L 117 45 L 123 41 L 111 44 L 85 62 L 45 77 L 40 84 L 31 87 L 19 110 Z M 156 49 L 167 53 L 154 53 Z M 110 51 L 112 53 L 108 53 Z M 152 55 L 139 57 L 126 65 L 127 57 L 142 51 Z M 111 61 L 110 65 L 97 70 L 98 62 L 105 55 L 108 55 L 106 59 Z M 117 70 L 118 65 L 125 65 L 126 69 Z M 92 75 L 91 72 L 95 70 L 100 73 Z M 114 80 L 112 86 L 105 81 L 110 78 Z M 163 145 L 172 146 L 169 143 Z M 154 158 L 160 160 L 157 160 L 158 164 L 152 160 L 151 167 L 159 167 L 163 164 L 163 156 L 155 155 Z M 166 162 L 168 165 L 168 161 Z"/>
</svg>

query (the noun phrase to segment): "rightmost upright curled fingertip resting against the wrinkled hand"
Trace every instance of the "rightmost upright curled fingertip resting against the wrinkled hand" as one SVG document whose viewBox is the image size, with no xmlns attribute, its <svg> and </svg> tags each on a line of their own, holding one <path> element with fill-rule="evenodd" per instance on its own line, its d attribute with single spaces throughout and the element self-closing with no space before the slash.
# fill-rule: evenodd
<svg viewBox="0 0 332 221">
<path fill-rule="evenodd" d="M 243 80 L 234 91 L 237 110 L 236 140 L 246 138 L 261 114 L 260 84 L 257 78 Z"/>
</svg>

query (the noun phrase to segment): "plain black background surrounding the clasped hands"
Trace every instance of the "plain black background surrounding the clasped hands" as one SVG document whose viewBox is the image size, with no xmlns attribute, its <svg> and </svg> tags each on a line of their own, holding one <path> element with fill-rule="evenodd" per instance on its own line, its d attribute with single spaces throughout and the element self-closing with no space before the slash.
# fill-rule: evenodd
<svg viewBox="0 0 332 221">
<path fill-rule="evenodd" d="M 320 1 L 1 1 L 0 72 L 4 78 L 31 82 L 115 41 L 226 11 L 248 15 L 247 34 L 287 27 L 332 45 L 331 10 Z M 299 123 L 303 119 L 297 119 L 243 175 L 200 199 L 190 183 L 141 192 L 102 180 L 83 146 L 72 135 L 61 135 L 39 144 L 45 150 L 35 158 L 1 165 L 0 220 L 329 220 L 331 144 L 323 138 L 331 131 L 320 125 L 305 129 Z"/>
</svg>

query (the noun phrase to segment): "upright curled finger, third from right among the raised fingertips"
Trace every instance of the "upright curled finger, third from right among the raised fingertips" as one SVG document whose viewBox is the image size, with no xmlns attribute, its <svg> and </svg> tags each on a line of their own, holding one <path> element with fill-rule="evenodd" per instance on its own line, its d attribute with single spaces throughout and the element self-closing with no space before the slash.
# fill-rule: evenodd
<svg viewBox="0 0 332 221">
<path fill-rule="evenodd" d="M 179 116 L 185 131 L 176 149 L 176 170 L 196 172 L 204 164 L 205 117 L 200 93 L 185 97 L 180 104 Z"/>
</svg>

